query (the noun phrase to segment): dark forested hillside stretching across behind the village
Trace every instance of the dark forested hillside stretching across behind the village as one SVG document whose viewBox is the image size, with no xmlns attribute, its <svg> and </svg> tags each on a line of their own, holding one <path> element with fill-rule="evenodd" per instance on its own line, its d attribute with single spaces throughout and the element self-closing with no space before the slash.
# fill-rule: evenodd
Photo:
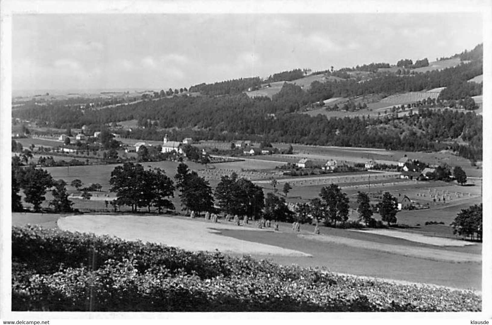
<svg viewBox="0 0 492 325">
<path fill-rule="evenodd" d="M 236 138 L 268 139 L 316 145 L 378 147 L 393 150 L 456 150 L 463 157 L 481 159 L 482 117 L 474 112 L 459 112 L 446 107 L 444 100 L 461 99 L 482 93 L 482 85 L 468 82 L 482 74 L 482 46 L 460 54 L 471 60 L 441 71 L 397 76 L 374 74 L 358 82 L 315 81 L 307 91 L 285 83 L 272 99 L 248 98 L 241 90 L 254 86 L 259 78 L 196 85 L 192 91 L 209 96 L 174 96 L 145 100 L 131 105 L 101 110 L 80 110 L 57 106 L 26 105 L 13 111 L 14 118 L 36 119 L 58 128 L 82 125 L 101 126 L 110 122 L 137 119 L 146 129 L 121 132 L 123 136 L 160 139 L 164 132 L 196 139 L 231 140 Z M 386 64 L 366 66 L 369 70 Z M 296 69 L 274 75 L 272 80 L 307 73 Z M 283 78 L 282 77 L 282 78 Z M 436 101 L 419 101 L 412 116 L 386 115 L 378 118 L 327 118 L 297 112 L 332 97 L 376 94 L 389 96 L 401 92 L 447 87 Z M 228 95 L 222 95 L 223 93 Z M 221 94 L 221 96 L 212 96 Z M 470 107 L 474 107 L 470 106 Z M 435 108 L 442 108 L 436 110 Z M 147 121 L 153 121 L 149 125 Z M 163 130 L 167 129 L 167 130 Z M 171 131 L 171 129 L 173 131 Z M 160 130 L 160 131 L 159 131 Z M 192 131 L 191 131 L 192 130 Z M 463 145 L 462 141 L 467 144 Z M 457 143 L 461 142 L 460 145 Z"/>
</svg>

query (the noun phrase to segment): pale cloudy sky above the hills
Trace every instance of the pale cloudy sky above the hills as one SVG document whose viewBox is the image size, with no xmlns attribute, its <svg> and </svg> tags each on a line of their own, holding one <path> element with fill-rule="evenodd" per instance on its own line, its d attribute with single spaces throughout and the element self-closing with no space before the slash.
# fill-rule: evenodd
<svg viewBox="0 0 492 325">
<path fill-rule="evenodd" d="M 180 88 L 433 61 L 481 42 L 474 13 L 22 14 L 12 19 L 12 88 Z"/>
</svg>

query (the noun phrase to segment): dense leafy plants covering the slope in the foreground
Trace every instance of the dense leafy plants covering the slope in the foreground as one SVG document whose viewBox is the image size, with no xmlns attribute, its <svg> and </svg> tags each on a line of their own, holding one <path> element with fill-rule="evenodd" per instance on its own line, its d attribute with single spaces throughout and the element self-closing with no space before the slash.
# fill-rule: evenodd
<svg viewBox="0 0 492 325">
<path fill-rule="evenodd" d="M 12 308 L 49 311 L 480 311 L 472 292 L 37 226 L 12 231 Z"/>
</svg>

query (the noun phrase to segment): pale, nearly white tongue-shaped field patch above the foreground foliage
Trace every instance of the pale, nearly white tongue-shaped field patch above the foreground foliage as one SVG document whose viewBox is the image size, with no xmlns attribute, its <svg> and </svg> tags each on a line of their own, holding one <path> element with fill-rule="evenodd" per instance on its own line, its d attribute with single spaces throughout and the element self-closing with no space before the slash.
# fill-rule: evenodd
<svg viewBox="0 0 492 325">
<path fill-rule="evenodd" d="M 191 220 L 183 217 L 84 215 L 62 217 L 58 220 L 58 226 L 62 230 L 72 232 L 78 231 L 96 235 L 109 234 L 128 241 L 141 240 L 160 243 L 191 251 L 214 251 L 218 249 L 229 253 L 309 256 L 296 250 L 215 235 L 220 229 L 268 231 L 236 226 L 232 222 L 219 224 L 206 222 L 203 219 Z"/>
</svg>

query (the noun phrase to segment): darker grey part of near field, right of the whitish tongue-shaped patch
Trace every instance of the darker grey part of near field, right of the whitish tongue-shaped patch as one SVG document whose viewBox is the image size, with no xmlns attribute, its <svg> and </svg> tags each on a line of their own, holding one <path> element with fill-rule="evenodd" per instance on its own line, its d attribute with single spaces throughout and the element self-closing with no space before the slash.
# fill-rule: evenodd
<svg viewBox="0 0 492 325">
<path fill-rule="evenodd" d="M 302 226 L 302 229 L 304 229 L 303 227 L 304 225 Z M 329 238 L 334 239 L 335 236 L 338 236 L 338 230 L 339 229 L 326 229 L 326 232 L 333 232 L 334 236 Z M 343 232 L 354 233 L 350 231 Z M 332 272 L 431 283 L 461 289 L 481 290 L 481 264 L 476 262 L 452 263 L 449 261 L 435 261 L 371 249 L 372 245 L 377 244 L 370 244 L 371 242 L 367 241 L 358 243 L 364 244 L 365 246 L 363 247 L 354 247 L 342 244 L 344 240 L 340 238 L 334 239 L 333 242 L 310 241 L 299 236 L 293 237 L 292 234 L 287 232 L 271 233 L 269 236 L 261 236 L 259 233 L 224 230 L 222 231 L 222 235 L 238 239 L 247 238 L 248 240 L 254 240 L 255 242 L 264 244 L 277 244 L 291 249 L 293 247 L 302 247 L 303 252 L 312 255 L 310 258 L 291 258 L 284 256 L 269 257 L 269 259 L 280 264 L 297 264 L 306 267 L 322 266 Z M 392 240 L 387 236 L 379 237 L 383 238 L 383 241 L 388 240 L 389 242 L 394 243 L 392 246 L 398 245 L 394 242 L 396 239 Z M 343 238 L 343 236 L 341 238 Z M 409 241 L 400 241 L 402 241 L 400 244 L 404 243 L 403 245 L 405 246 L 413 245 L 410 244 L 411 242 Z M 420 244 L 414 244 L 415 247 L 422 247 L 419 246 Z M 418 250 L 420 250 L 420 248 Z M 453 250 L 454 248 L 450 249 L 449 253 L 443 254 L 448 254 L 449 257 L 452 257 L 453 253 L 451 252 Z M 472 254 L 465 256 L 473 258 Z M 259 255 L 254 257 L 262 258 Z"/>
</svg>

